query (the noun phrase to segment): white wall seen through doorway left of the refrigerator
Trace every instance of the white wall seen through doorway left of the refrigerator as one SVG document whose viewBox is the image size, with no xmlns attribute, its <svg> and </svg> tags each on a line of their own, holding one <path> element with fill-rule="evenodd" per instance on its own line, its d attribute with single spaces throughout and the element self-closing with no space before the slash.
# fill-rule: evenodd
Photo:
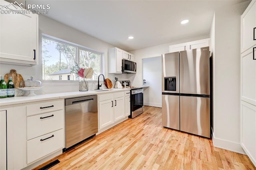
<svg viewBox="0 0 256 170">
<path fill-rule="evenodd" d="M 144 87 L 144 105 L 162 107 L 162 58 L 143 59 L 143 79 L 149 87 Z"/>
</svg>

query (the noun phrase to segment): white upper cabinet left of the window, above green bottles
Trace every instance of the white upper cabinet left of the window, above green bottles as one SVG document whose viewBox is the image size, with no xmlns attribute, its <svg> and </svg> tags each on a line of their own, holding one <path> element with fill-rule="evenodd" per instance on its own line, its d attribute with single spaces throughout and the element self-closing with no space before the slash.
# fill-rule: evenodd
<svg viewBox="0 0 256 170">
<path fill-rule="evenodd" d="M 10 3 L 0 1 L 0 8 Z M 14 6 L 9 9 L 16 10 Z M 20 7 L 17 6 L 19 9 Z M 0 15 L 0 63 L 38 64 L 38 15 L 20 8 L 24 14 Z M 1 11 L 8 11 L 3 8 Z"/>
</svg>

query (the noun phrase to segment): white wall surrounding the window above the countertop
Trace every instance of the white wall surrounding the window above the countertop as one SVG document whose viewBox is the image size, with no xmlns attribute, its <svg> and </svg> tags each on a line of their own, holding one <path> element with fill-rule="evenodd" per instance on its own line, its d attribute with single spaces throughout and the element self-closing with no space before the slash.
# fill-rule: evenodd
<svg viewBox="0 0 256 170">
<path fill-rule="evenodd" d="M 39 15 L 39 65 L 30 66 L 21 66 L 21 65 L 9 65 L 9 64 L 0 64 L 0 75 L 5 75 L 10 73 L 11 69 L 16 69 L 17 73 L 21 74 L 24 79 L 28 79 L 30 76 L 34 77 L 36 80 L 42 80 L 42 42 L 41 36 L 47 34 L 68 42 L 76 43 L 89 47 L 96 51 L 103 53 L 103 73 L 105 78 L 110 78 L 112 81 L 114 77 L 120 77 L 121 79 L 128 79 L 128 76 L 125 74 L 114 75 L 108 74 L 108 48 L 114 47 L 114 45 L 108 44 L 101 40 L 98 40 L 92 36 L 84 34 L 74 28 L 66 26 L 60 22 L 52 20 L 46 16 Z M 52 83 L 49 81 L 42 81 L 44 86 L 42 92 L 45 93 L 56 93 L 62 91 L 77 91 L 78 90 L 78 81 L 72 82 L 61 82 L 61 83 Z M 50 89 L 47 86 L 52 86 Z M 97 82 L 89 82 L 89 89 L 95 89 Z M 103 83 L 104 84 L 104 83 Z M 106 87 L 104 87 L 106 88 Z M 36 91 L 38 93 L 38 91 Z"/>
</svg>

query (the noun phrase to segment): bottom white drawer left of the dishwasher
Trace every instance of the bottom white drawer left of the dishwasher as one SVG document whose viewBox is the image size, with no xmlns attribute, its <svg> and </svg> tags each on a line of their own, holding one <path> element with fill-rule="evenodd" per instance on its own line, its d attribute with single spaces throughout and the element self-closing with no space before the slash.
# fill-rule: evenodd
<svg viewBox="0 0 256 170">
<path fill-rule="evenodd" d="M 63 129 L 27 141 L 27 163 L 64 148 Z"/>
</svg>

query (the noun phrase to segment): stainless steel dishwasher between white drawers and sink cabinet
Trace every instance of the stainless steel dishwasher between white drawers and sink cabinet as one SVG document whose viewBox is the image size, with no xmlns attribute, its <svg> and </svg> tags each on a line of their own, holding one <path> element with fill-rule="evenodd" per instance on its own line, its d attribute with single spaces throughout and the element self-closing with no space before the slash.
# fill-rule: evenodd
<svg viewBox="0 0 256 170">
<path fill-rule="evenodd" d="M 65 148 L 83 142 L 98 132 L 97 95 L 65 99 Z"/>
</svg>

